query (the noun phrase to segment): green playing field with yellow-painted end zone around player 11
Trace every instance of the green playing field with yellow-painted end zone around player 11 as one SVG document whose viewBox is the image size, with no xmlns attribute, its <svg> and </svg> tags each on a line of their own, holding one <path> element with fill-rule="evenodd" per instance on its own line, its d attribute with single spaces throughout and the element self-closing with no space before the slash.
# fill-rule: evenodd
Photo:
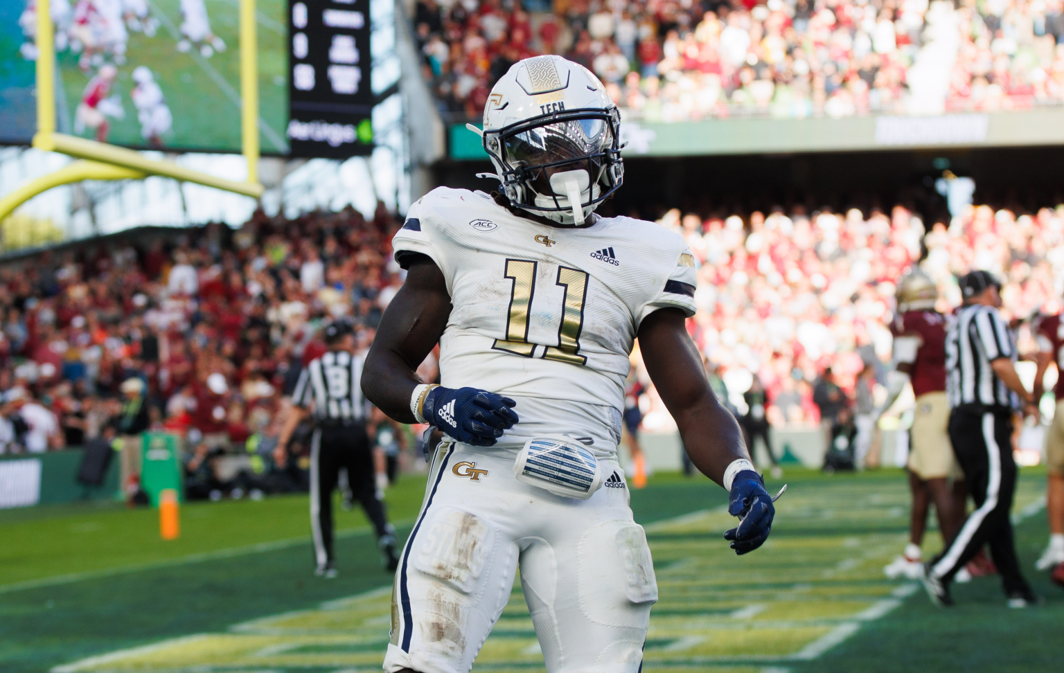
<svg viewBox="0 0 1064 673">
<path fill-rule="evenodd" d="M 822 476 L 792 469 L 769 542 L 736 557 L 725 492 L 663 474 L 632 492 L 660 601 L 646 671 L 780 673 L 1058 671 L 1064 591 L 1032 563 L 1046 540 L 1044 475 L 1021 476 L 1015 517 L 1044 605 L 1010 610 L 996 577 L 934 608 L 882 567 L 905 539 L 900 471 Z M 782 482 L 768 484 L 775 492 Z M 405 536 L 423 478 L 388 491 Z M 116 505 L 0 512 L 0 671 L 351 673 L 380 670 L 390 576 L 358 511 L 339 512 L 340 576 L 311 573 L 306 498 L 190 504 L 164 542 L 157 515 Z M 927 551 L 937 549 L 930 534 Z M 542 671 L 515 587 L 476 671 Z"/>
</svg>

